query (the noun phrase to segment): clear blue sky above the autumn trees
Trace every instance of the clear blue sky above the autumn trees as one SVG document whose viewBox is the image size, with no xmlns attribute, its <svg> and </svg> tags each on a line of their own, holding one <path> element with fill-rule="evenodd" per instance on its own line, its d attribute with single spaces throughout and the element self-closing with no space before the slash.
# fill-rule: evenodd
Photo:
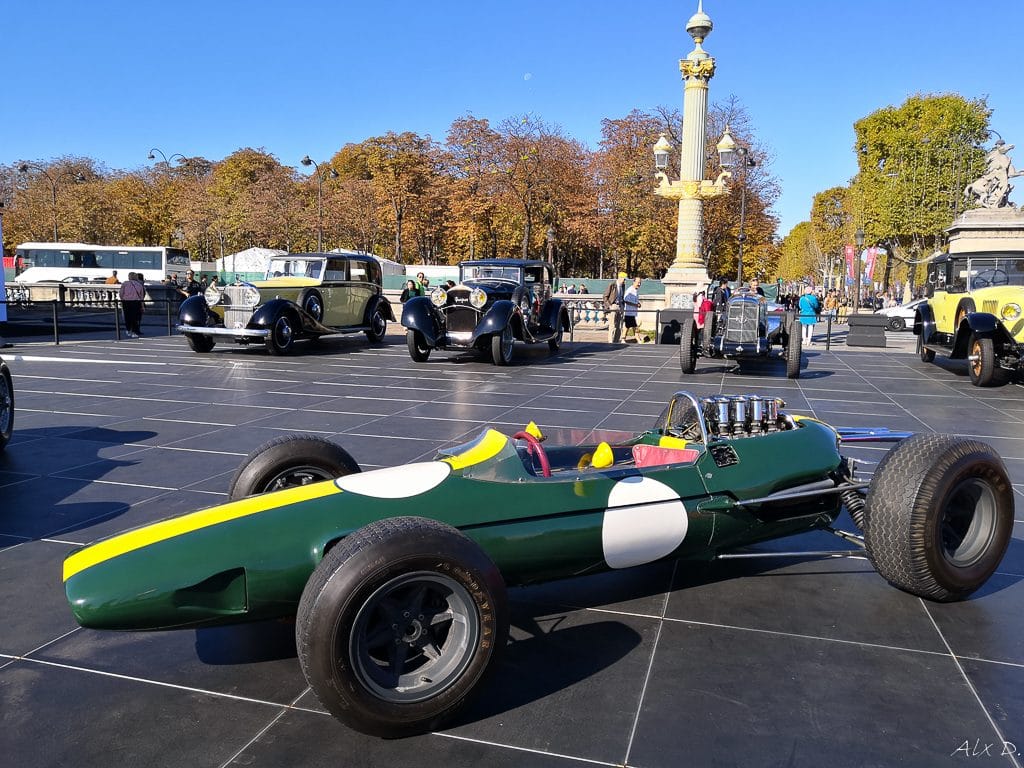
<svg viewBox="0 0 1024 768">
<path fill-rule="evenodd" d="M 2 0 L 0 163 L 219 160 L 298 165 L 388 130 L 534 113 L 591 146 L 602 118 L 681 106 L 696 0 L 348 2 Z M 706 0 L 718 60 L 774 156 L 780 234 L 854 174 L 853 122 L 912 93 L 988 96 L 1024 166 L 1024 3 Z M 982 31 L 983 18 L 991 29 Z M 304 169 L 303 169 L 304 170 Z M 1022 196 L 1015 196 L 1018 200 Z"/>
</svg>

